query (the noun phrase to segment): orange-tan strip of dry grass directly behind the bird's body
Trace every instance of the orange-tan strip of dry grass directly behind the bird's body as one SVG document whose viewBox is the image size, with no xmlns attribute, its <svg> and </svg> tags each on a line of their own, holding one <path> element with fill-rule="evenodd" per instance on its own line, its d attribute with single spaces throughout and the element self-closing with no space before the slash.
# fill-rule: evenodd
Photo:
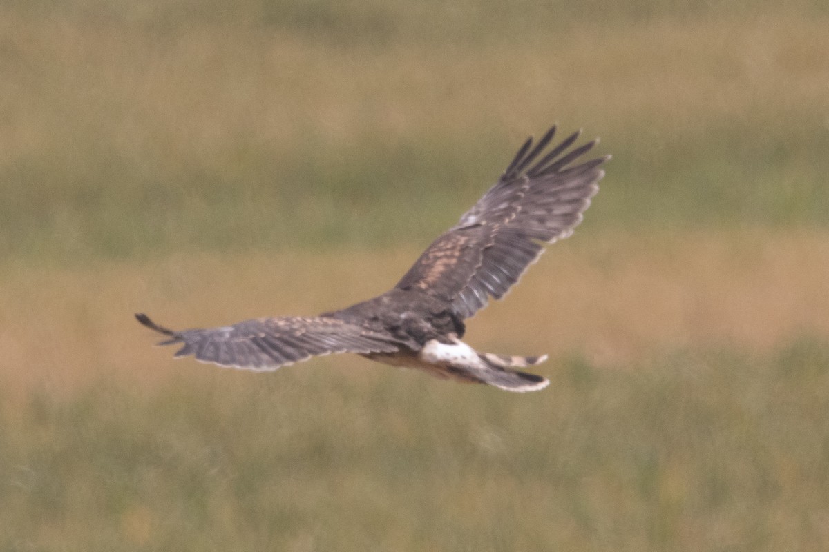
<svg viewBox="0 0 829 552">
<path fill-rule="evenodd" d="M 134 312 L 174 328 L 313 314 L 385 290 L 416 254 L 182 254 L 79 268 L 4 266 L 2 380 L 58 387 L 101 375 L 154 381 L 173 368 L 172 351 L 149 348 L 155 336 L 135 323 Z M 608 366 L 676 349 L 762 353 L 804 335 L 829 338 L 829 240 L 806 230 L 577 233 L 468 327 L 468 340 L 485 350 L 584 355 Z M 184 360 L 175 369 L 206 367 Z M 554 369 L 555 360 L 543 368 Z"/>
</svg>

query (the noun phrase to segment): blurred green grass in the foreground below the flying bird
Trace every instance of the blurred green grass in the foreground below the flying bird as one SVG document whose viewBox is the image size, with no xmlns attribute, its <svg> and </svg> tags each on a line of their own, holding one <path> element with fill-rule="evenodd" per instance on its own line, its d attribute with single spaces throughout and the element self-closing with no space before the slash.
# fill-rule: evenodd
<svg viewBox="0 0 829 552">
<path fill-rule="evenodd" d="M 322 366 L 320 366 L 322 364 Z M 573 359 L 514 396 L 322 361 L 43 387 L 3 550 L 824 550 L 829 349 Z"/>
</svg>

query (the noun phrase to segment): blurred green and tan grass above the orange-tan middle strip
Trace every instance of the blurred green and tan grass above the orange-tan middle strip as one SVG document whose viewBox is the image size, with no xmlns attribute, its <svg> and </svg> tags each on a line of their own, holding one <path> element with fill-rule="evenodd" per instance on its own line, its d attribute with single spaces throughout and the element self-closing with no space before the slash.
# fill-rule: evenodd
<svg viewBox="0 0 829 552">
<path fill-rule="evenodd" d="M 594 228 L 826 225 L 824 2 L 141 6 L 0 4 L 3 256 L 424 243 L 555 121 Z"/>
</svg>

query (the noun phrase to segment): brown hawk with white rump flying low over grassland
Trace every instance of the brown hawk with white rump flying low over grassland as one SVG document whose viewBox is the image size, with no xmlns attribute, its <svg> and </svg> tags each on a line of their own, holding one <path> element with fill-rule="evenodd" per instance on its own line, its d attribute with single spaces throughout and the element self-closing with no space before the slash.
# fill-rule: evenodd
<svg viewBox="0 0 829 552">
<path fill-rule="evenodd" d="M 357 353 L 376 362 L 413 367 L 460 382 L 507 391 L 538 391 L 550 382 L 518 368 L 541 357 L 478 353 L 463 343 L 463 321 L 501 299 L 544 252 L 582 220 L 610 156 L 575 162 L 597 142 L 571 149 L 574 132 L 548 146 L 529 138 L 497 183 L 460 221 L 434 240 L 390 291 L 309 317 L 245 320 L 213 329 L 175 331 L 146 314 L 138 322 L 179 344 L 176 357 L 194 355 L 220 366 L 270 371 L 329 353 Z"/>
</svg>

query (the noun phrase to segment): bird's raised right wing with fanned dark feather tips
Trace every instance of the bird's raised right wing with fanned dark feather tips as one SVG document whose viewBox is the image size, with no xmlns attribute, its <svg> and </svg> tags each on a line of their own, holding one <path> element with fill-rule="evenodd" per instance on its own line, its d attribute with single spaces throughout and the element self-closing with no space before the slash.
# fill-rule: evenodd
<svg viewBox="0 0 829 552">
<path fill-rule="evenodd" d="M 489 297 L 501 299 L 546 244 L 570 236 L 599 191 L 599 165 L 610 156 L 574 165 L 598 140 L 568 151 L 575 132 L 544 153 L 554 135 L 552 127 L 535 146 L 528 139 L 497 184 L 432 242 L 396 287 L 424 291 L 468 318 Z"/>
</svg>

